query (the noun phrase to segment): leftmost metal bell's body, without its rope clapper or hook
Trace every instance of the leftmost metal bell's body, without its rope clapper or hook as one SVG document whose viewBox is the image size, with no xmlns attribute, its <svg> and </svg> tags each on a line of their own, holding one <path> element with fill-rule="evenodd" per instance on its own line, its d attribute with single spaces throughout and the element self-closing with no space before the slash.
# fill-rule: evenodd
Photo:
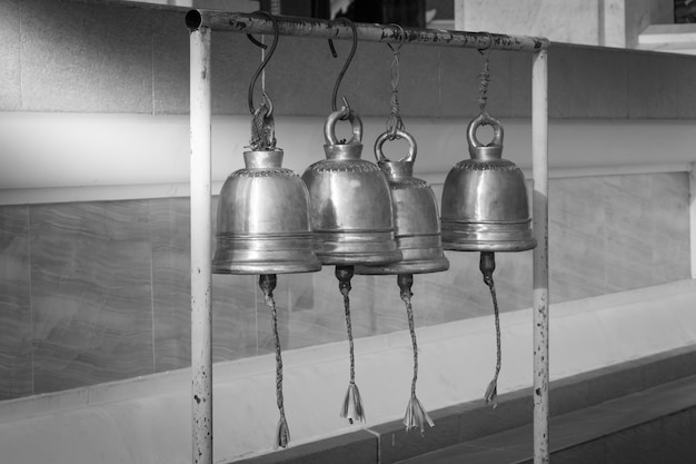
<svg viewBox="0 0 696 464">
<path fill-rule="evenodd" d="M 245 151 L 245 169 L 222 185 L 218 204 L 216 274 L 319 270 L 312 247 L 309 195 L 300 177 L 281 167 L 282 150 Z"/>
</svg>

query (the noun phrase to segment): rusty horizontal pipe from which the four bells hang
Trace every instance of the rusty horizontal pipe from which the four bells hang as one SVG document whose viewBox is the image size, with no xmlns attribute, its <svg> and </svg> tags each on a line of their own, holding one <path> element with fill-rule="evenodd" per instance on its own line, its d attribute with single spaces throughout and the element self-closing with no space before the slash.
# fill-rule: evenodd
<svg viewBox="0 0 696 464">
<path fill-rule="evenodd" d="M 340 21 L 325 19 L 276 17 L 281 36 L 311 37 L 316 39 L 352 39 L 352 30 Z M 191 10 L 186 16 L 186 24 L 191 30 L 209 28 L 213 31 L 272 34 L 272 21 L 260 14 L 233 13 L 213 10 Z M 465 32 L 440 29 L 401 29 L 395 24 L 369 24 L 356 22 L 358 40 L 366 42 L 400 43 L 401 30 L 406 33 L 405 43 L 495 49 L 538 52 L 549 47 L 543 37 L 507 36 L 488 32 Z"/>
</svg>

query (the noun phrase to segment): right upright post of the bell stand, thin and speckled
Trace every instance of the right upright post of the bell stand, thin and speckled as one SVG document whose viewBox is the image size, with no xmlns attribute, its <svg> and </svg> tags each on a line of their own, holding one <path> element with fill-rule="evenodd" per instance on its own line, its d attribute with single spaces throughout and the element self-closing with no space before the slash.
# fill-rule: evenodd
<svg viewBox="0 0 696 464">
<path fill-rule="evenodd" d="M 548 52 L 533 56 L 531 162 L 534 178 L 534 464 L 548 448 Z"/>
</svg>

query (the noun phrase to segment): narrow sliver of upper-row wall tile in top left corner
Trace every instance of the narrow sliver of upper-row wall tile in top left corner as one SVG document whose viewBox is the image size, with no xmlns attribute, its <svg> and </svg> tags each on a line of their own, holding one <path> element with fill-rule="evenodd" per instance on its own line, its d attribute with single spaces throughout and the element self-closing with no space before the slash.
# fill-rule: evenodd
<svg viewBox="0 0 696 464">
<path fill-rule="evenodd" d="M 0 108 L 4 111 L 21 107 L 19 24 L 19 0 L 0 3 Z"/>
</svg>

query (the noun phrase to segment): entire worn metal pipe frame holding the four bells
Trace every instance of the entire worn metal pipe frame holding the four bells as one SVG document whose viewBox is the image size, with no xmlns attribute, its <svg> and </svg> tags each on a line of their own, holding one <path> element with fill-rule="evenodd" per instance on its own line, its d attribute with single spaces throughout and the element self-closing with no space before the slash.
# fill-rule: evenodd
<svg viewBox="0 0 696 464">
<path fill-rule="evenodd" d="M 278 17 L 281 36 L 316 39 L 352 39 L 345 23 Z M 260 16 L 191 10 L 191 405 L 193 463 L 212 464 L 212 298 L 211 298 L 211 191 L 210 191 L 210 41 L 212 31 L 274 33 L 272 22 Z M 358 40 L 496 49 L 533 53 L 533 220 L 534 250 L 534 463 L 549 462 L 548 448 L 548 52 L 539 37 L 487 32 L 401 29 L 398 26 L 356 23 Z"/>
</svg>

